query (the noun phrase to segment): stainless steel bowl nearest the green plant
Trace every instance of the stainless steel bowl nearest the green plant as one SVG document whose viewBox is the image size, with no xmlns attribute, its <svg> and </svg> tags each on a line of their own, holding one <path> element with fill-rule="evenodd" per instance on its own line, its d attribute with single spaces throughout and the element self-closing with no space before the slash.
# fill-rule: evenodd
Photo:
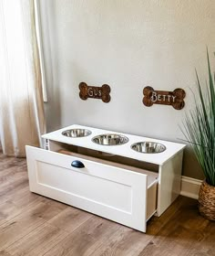
<svg viewBox="0 0 215 256">
<path fill-rule="evenodd" d="M 131 148 L 140 153 L 161 153 L 166 150 L 166 146 L 163 144 L 157 144 L 152 142 L 140 142 L 137 144 L 132 144 Z"/>
</svg>

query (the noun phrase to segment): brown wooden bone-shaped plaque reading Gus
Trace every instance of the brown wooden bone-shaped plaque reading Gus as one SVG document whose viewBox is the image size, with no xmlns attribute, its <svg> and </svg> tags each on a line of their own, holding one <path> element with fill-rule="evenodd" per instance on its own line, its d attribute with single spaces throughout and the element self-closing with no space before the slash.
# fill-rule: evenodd
<svg viewBox="0 0 215 256">
<path fill-rule="evenodd" d="M 101 87 L 88 86 L 87 83 L 81 82 L 79 84 L 79 96 L 82 100 L 87 98 L 101 99 L 103 102 L 110 101 L 110 87 L 107 84 L 103 84 Z"/>
</svg>

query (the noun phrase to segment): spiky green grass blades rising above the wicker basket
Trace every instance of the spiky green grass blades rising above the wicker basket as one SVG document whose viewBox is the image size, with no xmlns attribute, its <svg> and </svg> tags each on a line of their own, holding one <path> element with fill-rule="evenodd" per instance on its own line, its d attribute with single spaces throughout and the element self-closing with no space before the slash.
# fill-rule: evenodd
<svg viewBox="0 0 215 256">
<path fill-rule="evenodd" d="M 194 150 L 206 181 L 215 186 L 215 73 L 210 69 L 207 50 L 209 83 L 203 86 L 196 71 L 198 95 L 195 107 L 186 114 L 183 133 Z"/>
</svg>

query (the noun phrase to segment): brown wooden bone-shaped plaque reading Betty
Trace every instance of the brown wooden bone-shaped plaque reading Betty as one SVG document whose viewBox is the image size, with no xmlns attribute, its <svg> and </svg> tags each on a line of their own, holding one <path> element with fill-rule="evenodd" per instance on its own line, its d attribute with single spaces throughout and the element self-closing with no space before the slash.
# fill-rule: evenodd
<svg viewBox="0 0 215 256">
<path fill-rule="evenodd" d="M 177 88 L 174 91 L 155 91 L 152 87 L 147 86 L 143 89 L 143 104 L 147 107 L 153 104 L 172 105 L 176 110 L 181 110 L 184 105 L 186 92 Z"/>
</svg>

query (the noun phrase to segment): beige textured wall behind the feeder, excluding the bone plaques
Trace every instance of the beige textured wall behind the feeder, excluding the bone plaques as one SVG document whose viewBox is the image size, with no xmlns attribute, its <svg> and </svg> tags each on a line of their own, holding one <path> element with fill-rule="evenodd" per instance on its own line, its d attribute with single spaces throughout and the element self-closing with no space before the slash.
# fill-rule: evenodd
<svg viewBox="0 0 215 256">
<path fill-rule="evenodd" d="M 48 130 L 72 123 L 181 142 L 195 72 L 215 51 L 214 0 L 41 1 Z M 212 57 L 212 54 L 211 54 Z M 213 59 L 214 60 L 214 59 Z M 78 84 L 111 87 L 111 101 L 81 101 Z M 145 86 L 187 92 L 186 107 L 142 104 Z M 202 177 L 186 152 L 184 175 Z"/>
</svg>

